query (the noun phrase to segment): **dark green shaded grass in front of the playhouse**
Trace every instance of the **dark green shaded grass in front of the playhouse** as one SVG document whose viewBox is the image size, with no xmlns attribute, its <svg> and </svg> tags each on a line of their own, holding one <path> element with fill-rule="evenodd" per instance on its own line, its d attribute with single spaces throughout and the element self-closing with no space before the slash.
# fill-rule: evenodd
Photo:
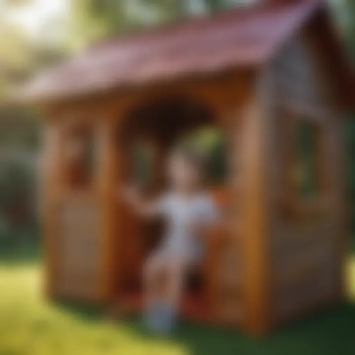
<svg viewBox="0 0 355 355">
<path fill-rule="evenodd" d="M 73 303 L 60 303 L 60 307 L 88 321 L 103 318 L 100 307 Z M 118 324 L 133 329 L 142 340 L 156 339 L 143 329 L 140 316 Z M 350 355 L 355 354 L 355 304 L 333 306 L 264 338 L 181 321 L 167 340 L 183 345 L 192 355 Z"/>
</svg>

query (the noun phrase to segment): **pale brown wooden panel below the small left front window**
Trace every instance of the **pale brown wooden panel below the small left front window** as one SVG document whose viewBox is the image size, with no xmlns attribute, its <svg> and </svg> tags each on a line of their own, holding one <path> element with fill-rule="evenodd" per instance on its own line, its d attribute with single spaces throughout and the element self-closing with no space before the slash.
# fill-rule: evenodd
<svg viewBox="0 0 355 355">
<path fill-rule="evenodd" d="M 100 295 L 99 209 L 86 193 L 71 193 L 58 208 L 56 294 L 93 300 Z"/>
</svg>

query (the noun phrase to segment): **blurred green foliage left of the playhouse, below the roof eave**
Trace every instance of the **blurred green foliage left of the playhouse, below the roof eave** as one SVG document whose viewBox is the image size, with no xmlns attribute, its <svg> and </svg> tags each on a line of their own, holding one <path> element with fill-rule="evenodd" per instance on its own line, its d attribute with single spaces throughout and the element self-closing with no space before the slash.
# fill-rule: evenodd
<svg viewBox="0 0 355 355">
<path fill-rule="evenodd" d="M 0 109 L 0 248 L 34 238 L 39 122 L 28 109 Z"/>
</svg>

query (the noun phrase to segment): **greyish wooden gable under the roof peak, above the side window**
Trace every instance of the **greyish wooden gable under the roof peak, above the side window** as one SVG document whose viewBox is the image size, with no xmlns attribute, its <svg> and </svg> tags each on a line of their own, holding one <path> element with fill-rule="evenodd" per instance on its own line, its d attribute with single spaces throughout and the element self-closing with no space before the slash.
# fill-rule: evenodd
<svg viewBox="0 0 355 355">
<path fill-rule="evenodd" d="M 272 89 L 280 110 L 322 121 L 340 98 L 322 53 L 306 33 L 288 40 L 272 61 Z"/>
</svg>

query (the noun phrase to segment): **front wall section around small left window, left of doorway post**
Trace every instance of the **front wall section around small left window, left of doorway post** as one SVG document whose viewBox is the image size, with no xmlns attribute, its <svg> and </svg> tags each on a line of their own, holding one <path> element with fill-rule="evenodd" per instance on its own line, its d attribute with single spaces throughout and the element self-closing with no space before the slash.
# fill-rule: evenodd
<svg viewBox="0 0 355 355">
<path fill-rule="evenodd" d="M 71 175 L 81 172 L 72 169 L 67 155 L 72 129 L 80 126 L 98 131 L 95 112 L 87 108 L 58 105 L 47 111 L 42 159 L 43 242 L 47 295 L 96 301 L 102 298 L 104 276 L 100 194 L 94 188 L 99 177 L 93 173 L 83 185 L 71 185 Z"/>
</svg>

